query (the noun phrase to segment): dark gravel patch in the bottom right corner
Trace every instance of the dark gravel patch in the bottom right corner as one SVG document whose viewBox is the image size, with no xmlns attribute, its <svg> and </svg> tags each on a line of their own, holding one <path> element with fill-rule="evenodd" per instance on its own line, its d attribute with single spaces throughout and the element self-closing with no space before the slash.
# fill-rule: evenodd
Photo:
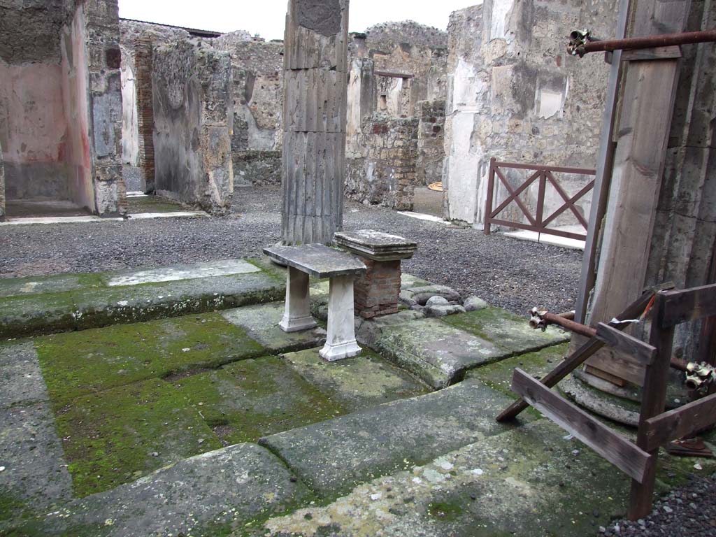
<svg viewBox="0 0 716 537">
<path fill-rule="evenodd" d="M 712 537 L 716 535 L 716 474 L 692 476 L 690 482 L 654 502 L 652 514 L 636 522 L 619 521 L 599 528 L 606 537 Z"/>
</svg>

